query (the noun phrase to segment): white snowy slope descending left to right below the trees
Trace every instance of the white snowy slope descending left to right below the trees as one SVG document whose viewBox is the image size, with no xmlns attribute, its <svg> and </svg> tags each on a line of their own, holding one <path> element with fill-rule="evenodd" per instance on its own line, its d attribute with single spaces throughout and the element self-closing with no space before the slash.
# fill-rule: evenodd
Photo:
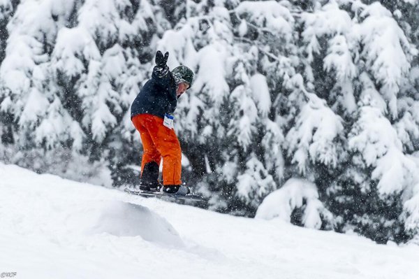
<svg viewBox="0 0 419 279">
<path fill-rule="evenodd" d="M 128 196 L 0 164 L 15 278 L 419 278 L 419 247 Z"/>
</svg>

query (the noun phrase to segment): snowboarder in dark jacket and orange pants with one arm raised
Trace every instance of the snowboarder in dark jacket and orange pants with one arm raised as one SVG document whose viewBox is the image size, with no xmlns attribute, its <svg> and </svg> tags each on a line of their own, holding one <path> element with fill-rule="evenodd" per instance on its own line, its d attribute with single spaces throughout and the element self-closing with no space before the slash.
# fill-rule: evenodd
<svg viewBox="0 0 419 279">
<path fill-rule="evenodd" d="M 169 52 L 156 52 L 152 78 L 145 83 L 131 106 L 131 120 L 140 132 L 144 153 L 141 163 L 140 189 L 159 191 L 159 166 L 163 157 L 163 192 L 189 194 L 180 180 L 182 150 L 173 129 L 172 113 L 177 99 L 193 83 L 193 71 L 177 66 L 169 71 Z"/>
</svg>

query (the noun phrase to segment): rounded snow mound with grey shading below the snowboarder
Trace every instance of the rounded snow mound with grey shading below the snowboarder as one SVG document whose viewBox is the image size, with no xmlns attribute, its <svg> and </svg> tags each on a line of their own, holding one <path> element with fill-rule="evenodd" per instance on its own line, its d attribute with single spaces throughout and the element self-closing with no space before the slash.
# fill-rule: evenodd
<svg viewBox="0 0 419 279">
<path fill-rule="evenodd" d="M 145 241 L 181 247 L 184 245 L 174 227 L 145 206 L 123 201 L 96 201 L 68 218 L 69 229 L 87 236 L 140 236 Z"/>
</svg>

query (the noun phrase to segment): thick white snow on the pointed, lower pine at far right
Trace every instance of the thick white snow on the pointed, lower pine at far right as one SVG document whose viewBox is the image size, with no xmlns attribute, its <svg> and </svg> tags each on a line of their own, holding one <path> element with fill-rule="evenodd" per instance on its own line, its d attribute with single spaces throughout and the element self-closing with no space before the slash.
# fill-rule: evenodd
<svg viewBox="0 0 419 279">
<path fill-rule="evenodd" d="M 403 154 L 397 132 L 381 109 L 374 106 L 369 94 L 360 100 L 358 114 L 349 134 L 348 147 L 360 153 L 365 166 L 374 167 L 372 179 L 379 180 L 380 194 L 402 192 L 413 182 L 414 162 Z"/>
</svg>

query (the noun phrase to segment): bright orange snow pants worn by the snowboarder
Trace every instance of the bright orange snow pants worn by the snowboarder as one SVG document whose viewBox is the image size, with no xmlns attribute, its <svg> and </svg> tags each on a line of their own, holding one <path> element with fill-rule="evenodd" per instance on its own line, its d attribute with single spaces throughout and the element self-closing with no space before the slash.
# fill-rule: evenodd
<svg viewBox="0 0 419 279">
<path fill-rule="evenodd" d="M 175 130 L 163 125 L 163 119 L 149 114 L 135 115 L 132 119 L 135 129 L 140 132 L 142 148 L 141 176 L 145 164 L 156 162 L 160 166 L 163 157 L 163 184 L 182 183 L 182 150 Z"/>
</svg>

